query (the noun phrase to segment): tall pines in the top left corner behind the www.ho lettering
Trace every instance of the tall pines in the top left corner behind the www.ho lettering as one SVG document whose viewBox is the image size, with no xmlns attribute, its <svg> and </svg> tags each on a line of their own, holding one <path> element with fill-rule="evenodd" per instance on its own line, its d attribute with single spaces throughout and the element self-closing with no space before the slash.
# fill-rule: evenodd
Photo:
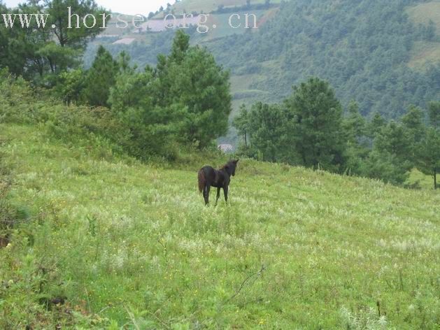
<svg viewBox="0 0 440 330">
<path fill-rule="evenodd" d="M 69 6 L 72 13 L 80 15 L 79 29 L 76 26 L 68 28 Z M 8 67 L 10 73 L 33 80 L 38 85 L 55 85 L 56 76 L 78 67 L 86 43 L 101 31 L 102 17 L 99 14 L 103 9 L 93 0 L 29 1 L 14 10 L 0 4 L 0 9 L 1 13 L 48 15 L 45 27 L 41 20 L 38 26 L 35 17 L 30 19 L 29 27 L 21 27 L 18 19 L 12 28 L 0 24 L 0 68 Z M 87 14 L 97 17 L 96 26 L 90 29 L 83 25 L 83 17 Z M 91 15 L 86 20 L 90 27 Z M 76 25 L 75 16 L 72 22 Z"/>
</svg>

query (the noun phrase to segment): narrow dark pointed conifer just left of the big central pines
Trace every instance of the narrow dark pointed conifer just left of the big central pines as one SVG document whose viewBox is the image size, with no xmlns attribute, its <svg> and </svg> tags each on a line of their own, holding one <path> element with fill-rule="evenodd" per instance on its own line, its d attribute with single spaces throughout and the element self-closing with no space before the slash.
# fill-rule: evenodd
<svg viewBox="0 0 440 330">
<path fill-rule="evenodd" d="M 92 67 L 87 71 L 83 100 L 90 106 L 108 106 L 110 88 L 115 85 L 118 71 L 118 62 L 103 46 L 99 46 Z"/>
</svg>

